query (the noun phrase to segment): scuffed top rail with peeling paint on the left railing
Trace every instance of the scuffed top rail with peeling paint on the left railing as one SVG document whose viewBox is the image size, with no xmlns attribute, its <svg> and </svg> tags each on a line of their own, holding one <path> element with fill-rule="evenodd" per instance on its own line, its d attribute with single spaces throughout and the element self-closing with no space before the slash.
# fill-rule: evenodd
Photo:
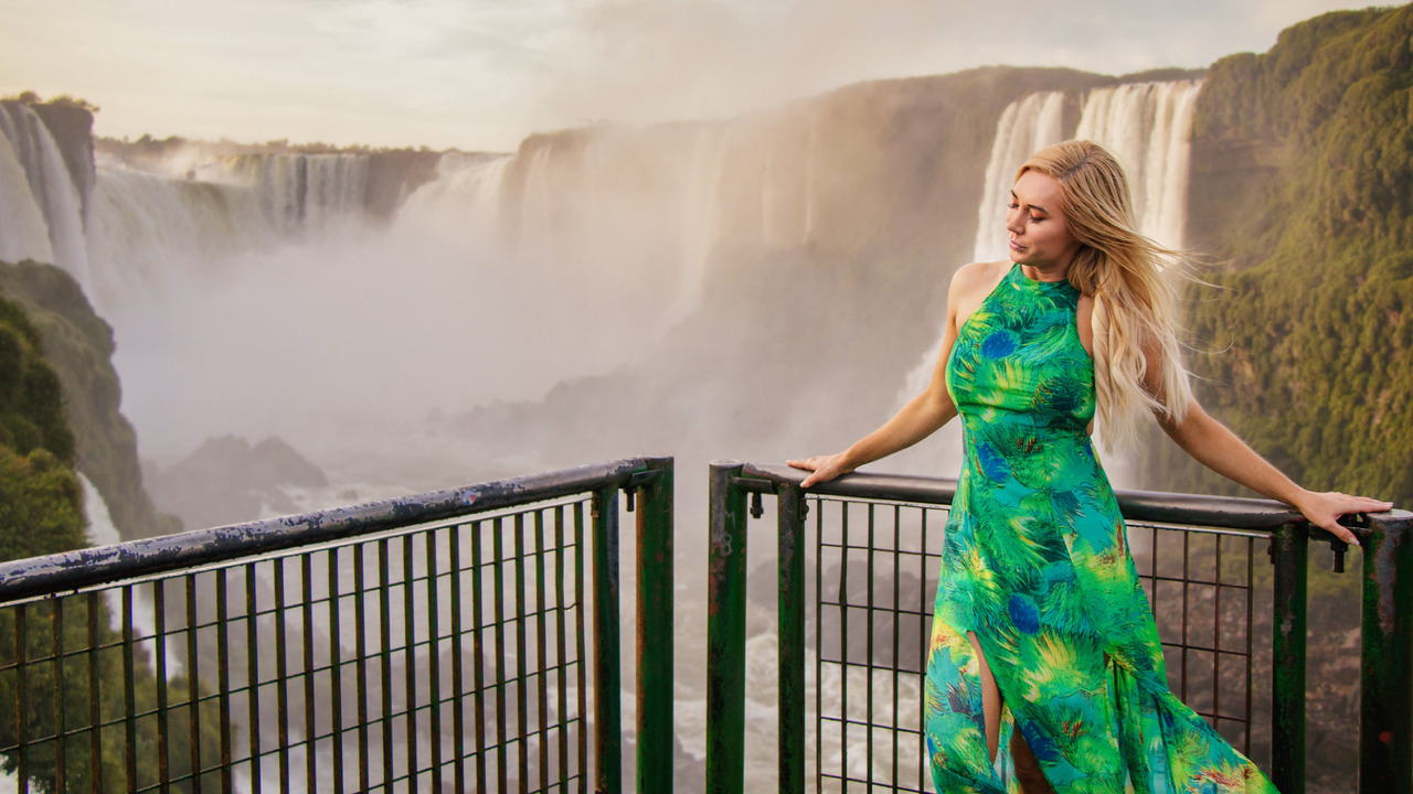
<svg viewBox="0 0 1413 794">
<path fill-rule="evenodd" d="M 16 559 L 0 564 L 0 603 L 531 504 L 602 487 L 627 486 L 634 476 L 656 469 L 660 463 L 661 459 L 657 458 L 627 458 L 349 507 Z"/>
</svg>

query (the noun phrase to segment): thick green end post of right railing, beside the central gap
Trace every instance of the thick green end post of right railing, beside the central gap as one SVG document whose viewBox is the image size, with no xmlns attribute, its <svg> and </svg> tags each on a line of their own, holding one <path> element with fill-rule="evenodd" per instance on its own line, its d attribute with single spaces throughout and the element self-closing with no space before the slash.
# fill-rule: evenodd
<svg viewBox="0 0 1413 794">
<path fill-rule="evenodd" d="M 740 463 L 709 469 L 706 552 L 706 790 L 746 786 L 746 494 Z"/>
</svg>

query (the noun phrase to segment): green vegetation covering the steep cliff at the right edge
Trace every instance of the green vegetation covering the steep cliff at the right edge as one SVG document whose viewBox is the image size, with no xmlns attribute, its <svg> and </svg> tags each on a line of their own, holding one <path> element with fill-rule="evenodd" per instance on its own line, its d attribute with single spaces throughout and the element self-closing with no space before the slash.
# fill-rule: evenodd
<svg viewBox="0 0 1413 794">
<path fill-rule="evenodd" d="M 1413 504 L 1413 7 L 1218 61 L 1194 153 L 1224 143 L 1283 157 L 1211 235 L 1228 264 L 1188 319 L 1204 404 L 1303 485 Z M 1164 446 L 1164 486 L 1234 490 Z"/>
</svg>

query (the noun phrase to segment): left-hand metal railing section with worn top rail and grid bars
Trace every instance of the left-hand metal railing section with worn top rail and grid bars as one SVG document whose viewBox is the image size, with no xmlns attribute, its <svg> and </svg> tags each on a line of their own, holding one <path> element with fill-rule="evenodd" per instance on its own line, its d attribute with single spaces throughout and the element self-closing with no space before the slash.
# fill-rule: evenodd
<svg viewBox="0 0 1413 794">
<path fill-rule="evenodd" d="M 0 565 L 0 757 L 20 791 L 622 791 L 620 492 L 670 791 L 671 459 Z"/>
</svg>

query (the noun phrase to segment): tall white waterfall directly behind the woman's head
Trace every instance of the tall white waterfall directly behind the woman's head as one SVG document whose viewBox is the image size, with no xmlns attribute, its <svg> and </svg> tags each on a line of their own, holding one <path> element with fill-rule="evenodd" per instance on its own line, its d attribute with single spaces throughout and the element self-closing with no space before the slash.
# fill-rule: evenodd
<svg viewBox="0 0 1413 794">
<path fill-rule="evenodd" d="M 1063 129 L 1063 92 L 1034 93 L 1013 102 L 996 123 L 978 209 L 976 261 L 1006 256 L 1006 201 L 1010 181 L 1034 151 L 1067 138 L 1088 138 L 1109 148 L 1129 175 L 1139 230 L 1160 244 L 1180 249 L 1187 223 L 1187 172 L 1193 114 L 1201 81 L 1130 83 L 1092 89 L 1082 97 L 1075 130 Z M 945 328 L 909 373 L 899 405 L 927 389 L 942 348 Z M 947 469 L 959 461 L 955 444 Z"/>
</svg>

